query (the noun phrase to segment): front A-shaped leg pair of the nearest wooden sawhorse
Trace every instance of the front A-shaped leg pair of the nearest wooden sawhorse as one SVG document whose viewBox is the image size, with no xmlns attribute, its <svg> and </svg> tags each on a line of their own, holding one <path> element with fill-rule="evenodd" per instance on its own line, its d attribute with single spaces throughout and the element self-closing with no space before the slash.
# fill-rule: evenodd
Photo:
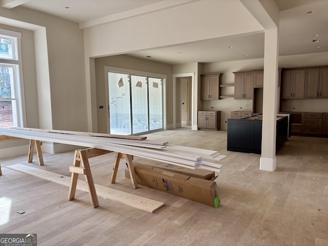
<svg viewBox="0 0 328 246">
<path fill-rule="evenodd" d="M 83 168 L 80 168 L 80 163 L 82 163 Z M 94 187 L 86 150 L 75 150 L 74 162 L 73 166 L 70 167 L 70 172 L 72 172 L 72 176 L 68 200 L 71 201 L 75 197 L 78 174 L 84 174 L 89 190 L 91 206 L 92 208 L 98 207 L 99 201 L 96 193 L 96 188 Z"/>
</svg>

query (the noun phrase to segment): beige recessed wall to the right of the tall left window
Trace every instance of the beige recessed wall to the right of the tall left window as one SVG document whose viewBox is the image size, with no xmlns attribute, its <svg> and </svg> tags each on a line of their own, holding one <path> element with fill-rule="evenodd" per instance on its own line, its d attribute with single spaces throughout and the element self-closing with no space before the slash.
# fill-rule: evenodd
<svg viewBox="0 0 328 246">
<path fill-rule="evenodd" d="M 83 30 L 24 7 L 0 8 L 0 16 L 0 25 L 22 31 L 26 127 L 87 131 Z M 7 147 L 8 142 L 0 144 Z"/>
</svg>

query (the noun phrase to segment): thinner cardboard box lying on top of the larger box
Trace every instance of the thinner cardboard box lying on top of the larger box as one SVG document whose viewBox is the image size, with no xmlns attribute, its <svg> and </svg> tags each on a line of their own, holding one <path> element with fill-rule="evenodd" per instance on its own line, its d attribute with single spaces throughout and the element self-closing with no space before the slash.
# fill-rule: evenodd
<svg viewBox="0 0 328 246">
<path fill-rule="evenodd" d="M 190 177 L 202 178 L 202 179 L 208 179 L 208 180 L 215 178 L 215 172 L 204 170 L 204 169 L 183 168 L 183 167 L 176 166 L 173 164 L 159 162 L 159 161 L 151 160 L 151 159 L 138 159 L 136 161 L 141 164 L 150 165 L 150 166 L 153 166 L 156 168 L 165 169 L 165 170 L 168 170 L 168 171 L 171 171 L 174 173 L 179 173 L 179 174 L 187 175 Z"/>
</svg>

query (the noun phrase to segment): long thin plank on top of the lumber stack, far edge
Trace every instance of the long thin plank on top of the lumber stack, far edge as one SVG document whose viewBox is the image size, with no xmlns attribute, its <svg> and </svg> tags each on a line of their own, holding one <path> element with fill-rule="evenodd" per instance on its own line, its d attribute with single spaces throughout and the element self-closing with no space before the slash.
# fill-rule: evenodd
<svg viewBox="0 0 328 246">
<path fill-rule="evenodd" d="M 61 134 L 81 135 L 81 136 L 112 137 L 112 138 L 133 139 L 133 140 L 145 140 L 145 139 L 147 139 L 147 137 L 145 137 L 145 136 L 115 135 L 115 134 L 107 134 L 107 133 L 47 130 L 47 129 L 24 128 L 24 127 L 12 127 L 11 129 L 24 130 L 24 131 L 34 131 L 34 132 L 61 133 Z"/>
</svg>

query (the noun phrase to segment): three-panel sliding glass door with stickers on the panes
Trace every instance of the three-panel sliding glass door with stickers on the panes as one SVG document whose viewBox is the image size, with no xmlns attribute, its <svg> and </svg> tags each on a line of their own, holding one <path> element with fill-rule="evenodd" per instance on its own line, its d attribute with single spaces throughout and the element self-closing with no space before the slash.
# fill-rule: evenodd
<svg viewBox="0 0 328 246">
<path fill-rule="evenodd" d="M 161 78 L 108 72 L 108 90 L 111 134 L 163 128 Z"/>
</svg>

